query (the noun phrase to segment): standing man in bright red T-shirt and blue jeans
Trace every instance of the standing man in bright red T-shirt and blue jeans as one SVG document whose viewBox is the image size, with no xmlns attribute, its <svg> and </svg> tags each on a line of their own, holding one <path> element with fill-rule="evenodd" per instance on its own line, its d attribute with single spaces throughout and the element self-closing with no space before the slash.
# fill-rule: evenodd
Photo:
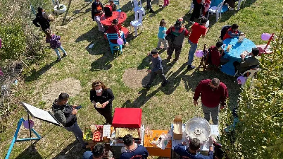
<svg viewBox="0 0 283 159">
<path fill-rule="evenodd" d="M 196 48 L 198 47 L 198 40 L 200 39 L 200 36 L 203 38 L 205 37 L 208 28 L 205 27 L 205 24 L 207 22 L 206 18 L 202 18 L 200 23 L 194 23 L 189 30 L 190 36 L 188 38 L 188 43 L 191 45 L 189 56 L 188 56 L 188 67 L 187 69 L 194 69 L 195 66 L 192 66 L 194 53 L 196 52 Z"/>
</svg>

